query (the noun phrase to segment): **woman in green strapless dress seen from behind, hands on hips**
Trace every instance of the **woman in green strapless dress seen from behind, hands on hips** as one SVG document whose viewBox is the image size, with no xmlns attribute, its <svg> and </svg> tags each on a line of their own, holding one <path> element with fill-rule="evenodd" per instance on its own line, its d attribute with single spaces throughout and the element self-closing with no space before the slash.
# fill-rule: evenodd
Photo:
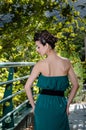
<svg viewBox="0 0 86 130">
<path fill-rule="evenodd" d="M 77 92 L 78 81 L 70 61 L 56 54 L 54 48 L 57 38 L 47 30 L 34 36 L 36 50 L 40 55 L 46 55 L 33 68 L 25 84 L 26 94 L 34 111 L 34 130 L 70 130 L 68 123 L 69 106 Z M 38 78 L 37 86 L 41 88 L 36 104 L 34 104 L 31 86 Z M 64 91 L 72 89 L 68 101 Z"/>
</svg>

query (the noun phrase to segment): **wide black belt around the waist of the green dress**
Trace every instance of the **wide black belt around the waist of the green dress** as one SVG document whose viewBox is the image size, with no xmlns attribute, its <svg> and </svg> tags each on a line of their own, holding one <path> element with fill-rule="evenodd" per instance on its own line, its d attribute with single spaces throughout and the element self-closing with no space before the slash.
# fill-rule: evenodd
<svg viewBox="0 0 86 130">
<path fill-rule="evenodd" d="M 64 91 L 60 90 L 50 90 L 50 89 L 42 89 L 40 94 L 52 95 L 52 96 L 64 96 Z"/>
</svg>

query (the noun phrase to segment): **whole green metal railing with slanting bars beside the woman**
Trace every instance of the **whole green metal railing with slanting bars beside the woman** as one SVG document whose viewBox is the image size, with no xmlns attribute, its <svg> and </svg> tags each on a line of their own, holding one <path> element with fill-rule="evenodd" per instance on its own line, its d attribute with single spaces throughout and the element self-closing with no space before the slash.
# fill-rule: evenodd
<svg viewBox="0 0 86 130">
<path fill-rule="evenodd" d="M 22 83 L 22 81 L 26 82 L 26 79 L 29 77 L 29 75 L 24 75 L 21 77 L 14 78 L 15 68 L 17 68 L 17 70 L 19 71 L 21 67 L 29 67 L 29 74 L 30 74 L 34 64 L 35 64 L 34 62 L 1 62 L 0 63 L 0 69 L 6 68 L 9 71 L 7 81 L 0 82 L 0 88 L 4 88 L 4 96 L 0 100 L 0 105 L 1 105 L 0 111 L 2 111 L 1 112 L 2 115 L 0 118 L 0 130 L 8 130 L 8 129 L 14 130 L 14 128 L 16 128 L 16 126 L 31 111 L 31 106 L 28 103 L 27 97 L 25 98 L 24 101 L 21 101 L 20 99 L 20 103 L 18 101 L 18 105 L 16 107 L 14 107 L 14 102 L 12 99 L 20 94 L 25 93 L 23 87 L 24 83 Z M 13 83 L 14 82 L 16 83 L 17 81 L 20 81 L 22 87 L 21 89 L 19 88 L 19 91 L 13 93 L 13 88 L 16 87 L 16 85 L 13 85 Z"/>
</svg>

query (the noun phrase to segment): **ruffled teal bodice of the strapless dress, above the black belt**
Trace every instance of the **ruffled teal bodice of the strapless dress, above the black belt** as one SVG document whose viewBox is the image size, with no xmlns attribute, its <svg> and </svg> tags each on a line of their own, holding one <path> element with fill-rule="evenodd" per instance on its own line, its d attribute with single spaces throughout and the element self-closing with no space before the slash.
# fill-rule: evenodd
<svg viewBox="0 0 86 130">
<path fill-rule="evenodd" d="M 44 76 L 40 74 L 37 86 L 42 89 L 65 91 L 69 87 L 68 76 Z"/>
</svg>

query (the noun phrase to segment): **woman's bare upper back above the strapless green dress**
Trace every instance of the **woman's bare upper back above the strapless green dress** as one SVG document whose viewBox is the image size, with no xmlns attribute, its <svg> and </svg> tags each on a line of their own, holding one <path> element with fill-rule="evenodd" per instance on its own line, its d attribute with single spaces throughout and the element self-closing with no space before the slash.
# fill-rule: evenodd
<svg viewBox="0 0 86 130">
<path fill-rule="evenodd" d="M 63 76 L 68 74 L 70 62 L 60 56 L 51 56 L 41 62 L 41 73 L 45 76 Z"/>
</svg>

